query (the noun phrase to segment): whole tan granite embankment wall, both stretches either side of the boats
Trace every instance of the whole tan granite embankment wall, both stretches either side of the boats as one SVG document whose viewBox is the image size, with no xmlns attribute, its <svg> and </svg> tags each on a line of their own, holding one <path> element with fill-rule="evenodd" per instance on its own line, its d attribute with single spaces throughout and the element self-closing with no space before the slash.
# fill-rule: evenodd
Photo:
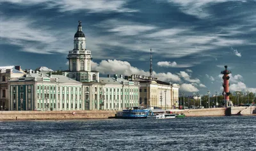
<svg viewBox="0 0 256 151">
<path fill-rule="evenodd" d="M 79 120 L 115 117 L 117 111 L 0 111 L 0 120 Z M 256 107 L 186 109 L 174 113 L 186 116 L 256 115 Z"/>
</svg>

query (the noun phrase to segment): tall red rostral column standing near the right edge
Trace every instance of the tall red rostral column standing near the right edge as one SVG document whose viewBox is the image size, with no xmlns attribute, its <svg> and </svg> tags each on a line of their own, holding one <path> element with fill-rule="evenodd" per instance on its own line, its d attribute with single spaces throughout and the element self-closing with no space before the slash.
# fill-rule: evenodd
<svg viewBox="0 0 256 151">
<path fill-rule="evenodd" d="M 229 91 L 229 76 L 228 74 L 231 74 L 231 71 L 228 71 L 227 68 L 228 66 L 225 65 L 225 70 L 221 71 L 221 74 L 223 74 L 223 95 L 225 97 L 225 106 L 227 107 L 227 104 L 230 104 L 230 100 L 229 100 L 229 95 L 230 95 L 230 91 Z M 231 104 L 230 104 L 231 105 Z"/>
</svg>

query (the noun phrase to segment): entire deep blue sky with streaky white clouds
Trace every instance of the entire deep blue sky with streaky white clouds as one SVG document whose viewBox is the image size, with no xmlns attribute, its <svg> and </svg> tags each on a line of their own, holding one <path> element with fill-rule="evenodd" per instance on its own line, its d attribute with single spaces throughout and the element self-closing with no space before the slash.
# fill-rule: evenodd
<svg viewBox="0 0 256 151">
<path fill-rule="evenodd" d="M 67 70 L 82 21 L 93 70 L 153 76 L 186 95 L 256 92 L 256 1 L 0 0 L 0 66 Z"/>
</svg>

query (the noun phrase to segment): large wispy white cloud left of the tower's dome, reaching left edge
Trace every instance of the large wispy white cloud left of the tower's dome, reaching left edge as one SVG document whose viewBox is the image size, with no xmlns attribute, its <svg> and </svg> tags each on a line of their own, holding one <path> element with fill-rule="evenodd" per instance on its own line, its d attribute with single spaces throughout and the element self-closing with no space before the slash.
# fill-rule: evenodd
<svg viewBox="0 0 256 151">
<path fill-rule="evenodd" d="M 7 19 L 6 17 L 1 17 L 0 22 L 0 38 L 2 42 L 17 45 L 25 52 L 38 54 L 67 53 L 67 50 L 63 50 L 63 47 L 68 47 L 68 38 L 66 38 L 68 33 L 51 30 L 45 26 L 38 26 L 35 20 L 27 18 L 17 19 L 11 17 Z M 72 44 L 72 41 L 70 41 L 70 44 Z"/>
</svg>

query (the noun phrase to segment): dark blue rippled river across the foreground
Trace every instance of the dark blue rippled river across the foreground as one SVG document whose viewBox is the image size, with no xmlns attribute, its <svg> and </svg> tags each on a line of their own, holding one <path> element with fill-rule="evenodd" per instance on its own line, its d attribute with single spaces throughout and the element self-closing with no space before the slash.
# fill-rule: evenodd
<svg viewBox="0 0 256 151">
<path fill-rule="evenodd" d="M 1 150 L 256 150 L 256 116 L 0 122 Z"/>
</svg>

